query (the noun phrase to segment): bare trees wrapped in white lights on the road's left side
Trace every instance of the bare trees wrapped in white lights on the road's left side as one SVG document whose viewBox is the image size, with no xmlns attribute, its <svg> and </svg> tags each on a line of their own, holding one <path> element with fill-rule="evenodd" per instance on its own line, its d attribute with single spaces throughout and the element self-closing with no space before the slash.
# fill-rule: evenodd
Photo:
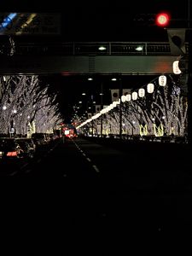
<svg viewBox="0 0 192 256">
<path fill-rule="evenodd" d="M 24 135 L 34 124 L 33 130 L 38 132 L 52 131 L 55 122 L 61 120 L 55 95 L 49 96 L 48 88 L 39 85 L 37 75 L 1 78 L 0 95 L 1 133 L 14 129 L 16 134 Z"/>
</svg>

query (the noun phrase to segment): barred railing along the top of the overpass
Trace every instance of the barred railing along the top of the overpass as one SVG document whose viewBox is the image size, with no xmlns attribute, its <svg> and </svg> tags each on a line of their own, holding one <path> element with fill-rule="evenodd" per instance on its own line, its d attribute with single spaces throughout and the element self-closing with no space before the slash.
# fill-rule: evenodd
<svg viewBox="0 0 192 256">
<path fill-rule="evenodd" d="M 15 55 L 171 55 L 171 49 L 167 42 L 20 43 Z"/>
</svg>

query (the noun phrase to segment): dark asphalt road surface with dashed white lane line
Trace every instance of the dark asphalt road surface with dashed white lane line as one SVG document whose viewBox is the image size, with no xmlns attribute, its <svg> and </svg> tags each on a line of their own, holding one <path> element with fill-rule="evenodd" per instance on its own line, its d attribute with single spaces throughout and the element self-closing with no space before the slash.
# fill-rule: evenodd
<svg viewBox="0 0 192 256">
<path fill-rule="evenodd" d="M 9 178 L 3 195 L 28 253 L 191 255 L 189 157 L 182 146 L 127 146 L 61 141 Z"/>
</svg>

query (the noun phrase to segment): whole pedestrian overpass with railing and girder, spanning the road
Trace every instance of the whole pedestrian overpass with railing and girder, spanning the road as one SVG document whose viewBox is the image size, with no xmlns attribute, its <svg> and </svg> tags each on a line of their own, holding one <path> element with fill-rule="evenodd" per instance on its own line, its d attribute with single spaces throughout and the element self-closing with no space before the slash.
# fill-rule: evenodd
<svg viewBox="0 0 192 256">
<path fill-rule="evenodd" d="M 9 55 L 10 50 L 14 54 Z M 14 49 L 0 45 L 0 73 L 166 74 L 172 73 L 179 55 L 172 54 L 169 42 L 20 43 Z"/>
</svg>

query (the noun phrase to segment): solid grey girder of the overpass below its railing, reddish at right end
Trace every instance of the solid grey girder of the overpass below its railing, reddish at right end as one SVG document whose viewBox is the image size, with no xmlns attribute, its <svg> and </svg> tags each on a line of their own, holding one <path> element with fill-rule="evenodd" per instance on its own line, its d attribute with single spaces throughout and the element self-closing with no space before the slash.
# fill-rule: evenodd
<svg viewBox="0 0 192 256">
<path fill-rule="evenodd" d="M 161 74 L 173 73 L 178 56 L 65 55 L 1 58 L 2 74 Z"/>
</svg>

